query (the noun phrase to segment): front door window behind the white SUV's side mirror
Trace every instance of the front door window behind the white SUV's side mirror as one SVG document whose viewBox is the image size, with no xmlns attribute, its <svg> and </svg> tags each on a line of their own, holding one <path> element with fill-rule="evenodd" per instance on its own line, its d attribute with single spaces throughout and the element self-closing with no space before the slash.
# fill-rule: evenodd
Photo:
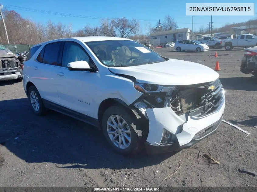
<svg viewBox="0 0 257 192">
<path fill-rule="evenodd" d="M 75 42 L 65 42 L 61 66 L 67 67 L 68 63 L 74 61 L 86 61 L 89 63 L 89 66 L 92 65 L 89 56 L 80 45 Z"/>
</svg>

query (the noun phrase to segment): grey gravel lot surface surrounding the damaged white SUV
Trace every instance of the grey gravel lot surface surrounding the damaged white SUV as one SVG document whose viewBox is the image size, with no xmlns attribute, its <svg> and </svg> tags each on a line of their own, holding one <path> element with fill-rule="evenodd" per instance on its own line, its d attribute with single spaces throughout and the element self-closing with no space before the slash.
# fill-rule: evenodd
<svg viewBox="0 0 257 192">
<path fill-rule="evenodd" d="M 245 138 L 245 133 L 221 123 L 215 134 L 189 149 L 123 157 L 86 123 L 53 111 L 34 115 L 23 82 L 4 82 L 0 83 L 0 186 L 257 186 L 257 177 L 236 171 L 241 167 L 257 171 L 257 79 L 240 72 L 243 49 L 155 51 L 212 69 L 218 60 L 226 91 L 224 119 L 252 135 Z M 220 164 L 202 156 L 209 153 Z M 179 161 L 183 162 L 179 171 L 162 181 L 174 173 Z"/>
</svg>

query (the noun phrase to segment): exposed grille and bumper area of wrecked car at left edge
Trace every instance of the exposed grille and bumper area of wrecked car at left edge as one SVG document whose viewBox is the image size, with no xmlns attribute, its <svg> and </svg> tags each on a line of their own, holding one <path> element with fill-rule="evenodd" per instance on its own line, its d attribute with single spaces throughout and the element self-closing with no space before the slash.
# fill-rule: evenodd
<svg viewBox="0 0 257 192">
<path fill-rule="evenodd" d="M 16 57 L 0 58 L 0 81 L 22 80 L 22 61 Z"/>
</svg>

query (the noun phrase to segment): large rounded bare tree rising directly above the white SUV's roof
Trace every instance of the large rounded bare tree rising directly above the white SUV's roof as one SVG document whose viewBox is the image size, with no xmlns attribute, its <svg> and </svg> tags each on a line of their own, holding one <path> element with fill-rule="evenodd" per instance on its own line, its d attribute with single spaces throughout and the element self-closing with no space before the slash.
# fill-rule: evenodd
<svg viewBox="0 0 257 192">
<path fill-rule="evenodd" d="M 116 30 L 120 37 L 127 38 L 130 35 L 136 34 L 138 31 L 138 21 L 128 20 L 125 17 L 112 19 L 111 26 Z"/>
</svg>

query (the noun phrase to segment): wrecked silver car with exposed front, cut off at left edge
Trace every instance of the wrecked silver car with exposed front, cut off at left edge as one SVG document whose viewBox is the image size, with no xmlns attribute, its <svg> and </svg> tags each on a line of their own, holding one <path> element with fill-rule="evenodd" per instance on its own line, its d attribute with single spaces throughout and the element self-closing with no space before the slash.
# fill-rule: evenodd
<svg viewBox="0 0 257 192">
<path fill-rule="evenodd" d="M 23 58 L 15 55 L 5 46 L 0 45 L 0 81 L 22 81 Z"/>
</svg>

